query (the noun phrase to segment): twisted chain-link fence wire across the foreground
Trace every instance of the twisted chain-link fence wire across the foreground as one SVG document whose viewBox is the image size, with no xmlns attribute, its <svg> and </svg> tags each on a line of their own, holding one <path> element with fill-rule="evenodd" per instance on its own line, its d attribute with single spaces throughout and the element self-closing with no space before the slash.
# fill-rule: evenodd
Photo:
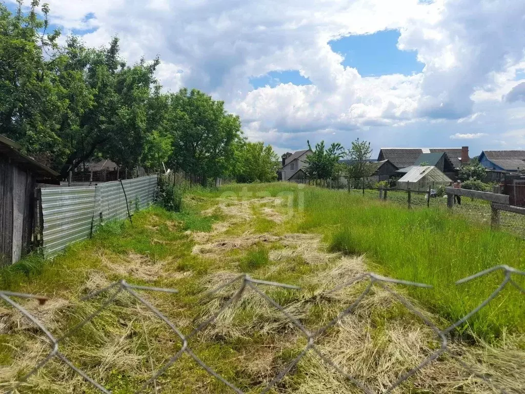
<svg viewBox="0 0 525 394">
<path fill-rule="evenodd" d="M 155 308 L 148 300 L 144 299 L 141 295 L 139 295 L 136 291 L 142 290 L 142 291 L 151 291 L 151 292 L 167 292 L 167 293 L 177 293 L 174 289 L 167 289 L 167 288 L 159 288 L 159 287 L 149 287 L 149 286 L 138 286 L 138 285 L 132 285 L 129 284 L 123 280 L 120 282 L 113 283 L 109 285 L 108 287 L 99 289 L 95 293 L 89 294 L 88 296 L 82 298 L 82 300 L 87 300 L 91 298 L 95 298 L 99 296 L 102 293 L 109 293 L 110 296 L 108 299 L 106 299 L 98 309 L 96 309 L 94 312 L 86 316 L 81 322 L 76 324 L 75 326 L 71 327 L 69 330 L 66 331 L 64 335 L 62 335 L 59 338 L 55 338 L 49 330 L 33 315 L 31 315 L 22 305 L 15 302 L 12 298 L 13 297 L 20 297 L 20 298 L 35 298 L 39 301 L 40 304 L 44 304 L 47 300 L 45 297 L 40 296 L 34 296 L 30 294 L 23 294 L 23 293 L 13 293 L 13 292 L 7 292 L 7 291 L 0 291 L 0 298 L 4 299 L 5 302 L 7 302 L 10 306 L 17 309 L 22 315 L 24 315 L 27 319 L 30 320 L 31 323 L 33 323 L 41 332 L 45 335 L 45 337 L 49 341 L 50 346 L 50 352 L 49 354 L 38 362 L 38 364 L 35 365 L 33 369 L 31 369 L 25 376 L 20 378 L 18 381 L 14 382 L 13 386 L 10 387 L 7 391 L 5 391 L 5 394 L 8 393 L 15 393 L 17 387 L 22 385 L 22 383 L 27 382 L 27 380 L 36 374 L 41 368 L 44 368 L 47 362 L 49 362 L 53 358 L 58 358 L 62 362 L 64 362 L 67 366 L 69 366 L 73 371 L 75 371 L 78 375 L 80 375 L 83 379 L 91 383 L 94 387 L 96 387 L 100 392 L 109 394 L 111 393 L 108 389 L 104 388 L 100 383 L 92 379 L 85 371 L 82 369 L 76 367 L 64 354 L 62 354 L 59 350 L 59 345 L 61 341 L 63 341 L 65 338 L 70 337 L 75 331 L 80 329 L 81 327 L 85 326 L 93 318 L 95 318 L 97 315 L 99 315 L 105 308 L 107 308 L 116 298 L 119 294 L 122 292 L 127 292 L 132 297 L 138 300 L 139 303 L 144 305 L 145 307 L 149 308 L 157 317 L 159 317 L 164 323 L 167 324 L 167 326 L 170 327 L 170 329 L 173 331 L 173 333 L 176 335 L 178 340 L 180 340 L 181 343 L 181 349 L 176 352 L 176 354 L 171 357 L 159 370 L 154 371 L 153 369 L 153 361 L 150 358 L 150 364 L 152 368 L 152 376 L 151 378 L 143 383 L 142 387 L 137 390 L 137 393 L 143 392 L 144 389 L 146 389 L 148 386 L 152 385 L 155 388 L 155 392 L 157 392 L 157 383 L 156 380 L 161 376 L 168 368 L 170 368 L 175 362 L 181 358 L 183 354 L 187 354 L 190 356 L 193 360 L 197 362 L 199 366 L 201 366 L 209 375 L 215 377 L 216 379 L 222 381 L 226 386 L 231 388 L 233 391 L 237 392 L 238 394 L 244 394 L 244 392 L 230 383 L 228 380 L 226 380 L 224 377 L 220 376 L 215 372 L 211 367 L 209 367 L 207 364 L 205 364 L 204 361 L 202 361 L 197 355 L 194 354 L 190 347 L 190 340 L 195 337 L 197 333 L 204 330 L 208 325 L 212 324 L 217 317 L 222 314 L 230 305 L 235 304 L 244 294 L 247 288 L 250 288 L 252 291 L 255 292 L 258 296 L 260 296 L 262 299 L 265 299 L 270 305 L 272 305 L 274 308 L 279 310 L 286 318 L 290 321 L 292 325 L 297 327 L 301 334 L 307 339 L 307 345 L 302 349 L 302 351 L 299 353 L 297 357 L 295 357 L 289 364 L 283 368 L 277 376 L 272 379 L 270 382 L 268 382 L 267 386 L 260 391 L 260 393 L 266 393 L 269 390 L 271 390 L 272 387 L 274 387 L 281 379 L 283 379 L 289 372 L 292 370 L 294 366 L 298 364 L 298 362 L 309 352 L 312 351 L 314 354 L 316 354 L 325 364 L 331 366 L 334 370 L 339 372 L 343 377 L 351 381 L 356 387 L 359 387 L 364 393 L 366 394 L 372 394 L 374 391 L 367 387 L 365 383 L 362 381 L 356 379 L 355 377 L 351 376 L 347 372 L 341 369 L 335 362 L 328 357 L 327 355 L 323 354 L 319 347 L 316 344 L 316 340 L 329 328 L 335 326 L 337 323 L 339 323 L 341 320 L 344 319 L 345 316 L 351 314 L 356 307 L 361 303 L 361 301 L 366 297 L 367 294 L 370 293 L 373 286 L 379 286 L 383 288 L 386 292 L 388 292 L 390 295 L 392 295 L 395 299 L 397 299 L 401 304 L 403 304 L 408 310 L 410 310 L 412 313 L 414 313 L 417 317 L 419 317 L 422 322 L 424 322 L 425 325 L 427 325 L 432 331 L 436 334 L 436 337 L 439 338 L 440 346 L 437 350 L 433 352 L 433 354 L 429 355 L 426 359 L 424 359 L 422 362 L 420 362 L 417 366 L 406 372 L 405 374 L 401 375 L 397 378 L 397 380 L 384 390 L 384 393 L 392 392 L 396 387 L 400 386 L 404 381 L 406 381 L 408 378 L 410 378 L 412 375 L 416 374 L 416 372 L 422 370 L 425 368 L 428 364 L 430 364 L 432 361 L 436 360 L 440 355 L 444 354 L 444 352 L 447 352 L 452 358 L 457 360 L 459 364 L 468 370 L 472 375 L 476 376 L 477 378 L 485 381 L 490 385 L 492 388 L 499 390 L 501 393 L 507 393 L 505 388 L 497 387 L 490 379 L 490 377 L 480 374 L 476 370 L 472 369 L 470 366 L 465 364 L 461 358 L 454 353 L 451 349 L 448 348 L 448 340 L 447 336 L 451 331 L 453 331 L 455 328 L 463 325 L 467 320 L 479 312 L 480 309 L 484 308 L 487 304 L 491 302 L 496 296 L 505 288 L 507 285 L 513 286 L 518 289 L 518 291 L 521 294 L 525 294 L 525 289 L 521 287 L 516 281 L 513 279 L 513 275 L 520 275 L 525 276 L 525 272 L 520 271 L 516 268 L 509 267 L 507 265 L 497 265 L 492 268 L 486 269 L 485 271 L 478 272 L 474 275 L 471 275 L 469 277 L 460 279 L 456 282 L 456 285 L 461 285 L 466 282 L 473 281 L 476 278 L 479 278 L 484 275 L 488 275 L 495 271 L 502 271 L 504 273 L 504 278 L 498 288 L 493 291 L 486 299 L 484 299 L 476 308 L 472 309 L 469 313 L 467 313 L 463 318 L 455 322 L 454 324 L 448 326 L 445 329 L 439 329 L 432 321 L 430 321 L 428 318 L 426 318 L 418 309 L 414 307 L 414 305 L 409 302 L 406 298 L 398 294 L 397 292 L 392 289 L 389 285 L 404 285 L 404 286 L 413 286 L 413 287 L 419 287 L 419 288 L 432 288 L 432 286 L 422 283 L 415 283 L 415 282 L 408 282 L 408 281 L 402 281 L 398 279 L 392 279 L 388 277 L 384 277 L 375 273 L 365 273 L 362 275 L 359 275 L 357 277 L 352 278 L 350 281 L 343 283 L 342 285 L 339 285 L 333 289 L 328 294 L 340 291 L 341 289 L 352 286 L 356 283 L 360 282 L 367 282 L 367 285 L 364 289 L 364 291 L 354 300 L 354 302 L 346 307 L 342 312 L 339 313 L 339 315 L 335 318 L 333 318 L 328 324 L 325 326 L 317 329 L 316 331 L 310 331 L 304 325 L 295 317 L 293 317 L 290 313 L 287 312 L 286 308 L 279 305 L 273 298 L 268 296 L 265 292 L 261 291 L 259 286 L 270 286 L 270 287 L 280 287 L 284 289 L 294 289 L 294 290 L 300 290 L 297 286 L 292 286 L 288 284 L 282 284 L 282 283 L 276 283 L 276 282 L 268 282 L 268 281 L 260 281 L 258 279 L 251 278 L 247 274 L 239 275 L 238 277 L 220 285 L 218 288 L 214 289 L 213 291 L 209 292 L 210 294 L 214 294 L 221 289 L 224 289 L 225 287 L 232 286 L 236 283 L 238 283 L 238 288 L 236 289 L 234 295 L 230 297 L 222 307 L 220 307 L 217 312 L 215 312 L 212 316 L 207 318 L 204 322 L 199 324 L 196 328 L 194 328 L 190 334 L 183 335 L 181 331 L 175 326 L 174 323 L 170 321 L 163 313 L 160 312 L 157 308 Z M 145 328 L 143 327 L 144 331 Z M 150 350 L 151 352 L 151 350 Z"/>
</svg>

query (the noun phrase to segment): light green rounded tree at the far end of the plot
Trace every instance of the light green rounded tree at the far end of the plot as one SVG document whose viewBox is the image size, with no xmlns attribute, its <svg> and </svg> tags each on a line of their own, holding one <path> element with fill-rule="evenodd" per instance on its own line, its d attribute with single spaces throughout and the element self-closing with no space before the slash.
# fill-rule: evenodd
<svg viewBox="0 0 525 394">
<path fill-rule="evenodd" d="M 271 182 L 277 179 L 279 157 L 271 145 L 246 142 L 239 154 L 237 182 Z"/>
</svg>

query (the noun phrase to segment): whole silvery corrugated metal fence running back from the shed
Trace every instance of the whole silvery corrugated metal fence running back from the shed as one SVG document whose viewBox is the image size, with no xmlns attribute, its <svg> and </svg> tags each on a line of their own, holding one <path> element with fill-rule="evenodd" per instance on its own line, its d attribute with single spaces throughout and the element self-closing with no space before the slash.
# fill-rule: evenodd
<svg viewBox="0 0 525 394">
<path fill-rule="evenodd" d="M 119 220 L 153 202 L 156 175 L 97 186 L 41 189 L 44 256 L 87 239 L 101 221 Z M 125 195 L 124 195 L 125 192 Z M 126 198 L 128 204 L 126 204 Z"/>
</svg>

